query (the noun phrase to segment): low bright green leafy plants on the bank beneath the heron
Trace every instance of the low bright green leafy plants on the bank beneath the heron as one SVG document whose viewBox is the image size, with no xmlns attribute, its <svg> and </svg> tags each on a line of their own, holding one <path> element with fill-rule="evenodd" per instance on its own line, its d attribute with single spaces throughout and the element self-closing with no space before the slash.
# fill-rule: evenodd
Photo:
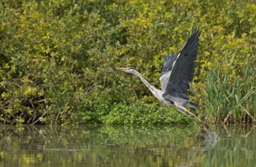
<svg viewBox="0 0 256 167">
<path fill-rule="evenodd" d="M 157 104 L 116 104 L 108 115 L 103 116 L 103 123 L 114 124 L 161 124 L 188 123 L 189 119 L 170 107 Z"/>
</svg>

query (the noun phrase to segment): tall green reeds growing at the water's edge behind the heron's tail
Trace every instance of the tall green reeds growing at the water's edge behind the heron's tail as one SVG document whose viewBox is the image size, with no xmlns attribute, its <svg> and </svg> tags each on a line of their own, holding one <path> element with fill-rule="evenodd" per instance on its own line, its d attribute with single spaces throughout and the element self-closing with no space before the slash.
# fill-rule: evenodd
<svg viewBox="0 0 256 167">
<path fill-rule="evenodd" d="M 230 62 L 215 65 L 204 80 L 204 111 L 214 122 L 254 122 L 256 110 L 256 67 L 247 58 L 245 68 Z M 216 64 L 216 63 L 215 63 Z M 236 77 L 239 72 L 243 77 Z"/>
</svg>

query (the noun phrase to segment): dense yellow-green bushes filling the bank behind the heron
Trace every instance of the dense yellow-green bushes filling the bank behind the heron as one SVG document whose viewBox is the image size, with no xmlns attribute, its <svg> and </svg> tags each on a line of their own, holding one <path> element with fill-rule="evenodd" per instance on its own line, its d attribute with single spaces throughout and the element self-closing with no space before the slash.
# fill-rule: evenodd
<svg viewBox="0 0 256 167">
<path fill-rule="evenodd" d="M 196 114 L 212 122 L 229 118 L 239 122 L 241 116 L 248 115 L 248 121 L 253 121 L 256 84 L 248 70 L 253 68 L 255 74 L 255 22 L 254 1 L 3 0 L 0 122 L 125 123 L 127 117 L 117 120 L 115 112 L 138 112 L 136 105 L 147 106 L 134 102 L 157 101 L 140 79 L 115 67 L 137 68 L 160 88 L 161 55 L 179 52 L 188 38 L 187 30 L 195 26 L 202 31 L 189 95 L 201 105 Z M 248 60 L 250 68 L 246 68 Z M 211 76 L 214 70 L 218 70 L 218 77 Z M 245 79 L 244 72 L 249 74 Z M 223 81 L 224 75 L 228 75 L 228 82 Z M 220 91 L 226 90 L 217 88 L 209 95 L 210 78 L 217 88 L 234 81 L 242 87 L 237 85 L 231 95 L 219 97 Z M 246 97 L 250 99 L 237 106 L 237 91 L 243 90 L 246 82 L 250 83 L 248 90 L 239 98 L 250 93 Z M 220 104 L 220 98 L 227 104 Z M 160 115 L 170 116 L 162 111 L 175 112 L 150 105 L 148 109 L 154 108 Z M 137 123 L 143 122 L 148 123 Z"/>
</svg>

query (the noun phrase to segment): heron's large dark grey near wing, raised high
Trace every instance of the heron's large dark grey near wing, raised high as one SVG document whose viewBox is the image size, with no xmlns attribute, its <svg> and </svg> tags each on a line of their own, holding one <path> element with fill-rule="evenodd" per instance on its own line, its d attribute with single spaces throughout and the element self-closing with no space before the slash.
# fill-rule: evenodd
<svg viewBox="0 0 256 167">
<path fill-rule="evenodd" d="M 189 100 L 186 94 L 195 72 L 196 47 L 198 46 L 199 36 L 199 29 L 193 29 L 180 54 L 177 57 L 174 56 L 173 63 L 170 63 L 170 67 L 166 68 L 168 72 L 164 72 L 166 77 L 163 79 L 163 82 L 161 81 L 164 85 L 164 89 L 162 88 L 164 98 L 170 99 L 171 96 L 174 96 Z M 165 79 L 166 81 L 164 81 Z"/>
</svg>

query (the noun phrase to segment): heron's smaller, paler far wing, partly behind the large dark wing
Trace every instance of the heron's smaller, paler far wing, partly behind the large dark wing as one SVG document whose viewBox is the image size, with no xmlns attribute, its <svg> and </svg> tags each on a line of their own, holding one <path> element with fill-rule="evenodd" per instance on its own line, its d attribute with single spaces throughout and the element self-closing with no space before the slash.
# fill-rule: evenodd
<svg viewBox="0 0 256 167">
<path fill-rule="evenodd" d="M 177 59 L 177 52 L 175 54 L 173 54 L 173 52 L 172 52 L 171 56 L 167 52 L 166 60 L 165 60 L 164 56 L 163 56 L 163 59 L 164 59 L 164 66 L 163 66 L 161 76 L 160 76 L 162 91 L 165 89 L 166 84 L 168 83 L 168 79 L 171 74 L 173 62 Z"/>
</svg>

